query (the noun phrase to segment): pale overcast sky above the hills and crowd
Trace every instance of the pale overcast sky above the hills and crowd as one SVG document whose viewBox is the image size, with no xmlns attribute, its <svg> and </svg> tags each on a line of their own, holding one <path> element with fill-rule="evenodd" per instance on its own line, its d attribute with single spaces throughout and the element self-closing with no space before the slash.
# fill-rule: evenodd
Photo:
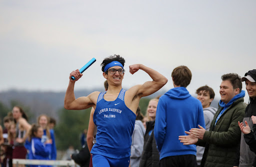
<svg viewBox="0 0 256 167">
<path fill-rule="evenodd" d="M 130 64 L 165 75 L 166 91 L 173 68 L 186 65 L 192 95 L 207 84 L 219 97 L 222 74 L 256 68 L 255 7 L 256 0 L 0 0 L 0 91 L 65 90 L 69 73 L 92 57 L 75 89 L 103 86 L 100 63 L 120 54 L 125 88 L 150 79 L 131 75 Z"/>
</svg>

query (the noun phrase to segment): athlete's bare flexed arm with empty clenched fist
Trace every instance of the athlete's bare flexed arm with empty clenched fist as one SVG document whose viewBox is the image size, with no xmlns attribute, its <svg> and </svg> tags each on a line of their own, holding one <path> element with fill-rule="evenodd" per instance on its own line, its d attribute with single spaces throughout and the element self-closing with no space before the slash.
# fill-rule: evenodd
<svg viewBox="0 0 256 167">
<path fill-rule="evenodd" d="M 133 64 L 129 66 L 129 71 L 131 74 L 135 73 L 138 69 L 145 71 L 153 79 L 151 81 L 146 81 L 142 85 L 136 85 L 138 86 L 138 89 L 135 95 L 138 97 L 143 97 L 154 93 L 168 81 L 165 76 L 143 64 Z"/>
</svg>

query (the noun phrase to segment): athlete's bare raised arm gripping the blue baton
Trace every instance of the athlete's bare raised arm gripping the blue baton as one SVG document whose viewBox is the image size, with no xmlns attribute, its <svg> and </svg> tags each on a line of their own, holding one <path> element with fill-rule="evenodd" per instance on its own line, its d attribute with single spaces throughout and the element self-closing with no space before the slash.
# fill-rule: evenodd
<svg viewBox="0 0 256 167">
<path fill-rule="evenodd" d="M 71 76 L 74 76 L 76 79 L 72 80 Z M 97 96 L 99 92 L 94 91 L 90 93 L 88 96 L 82 96 L 79 98 L 75 98 L 74 96 L 74 83 L 77 81 L 82 74 L 78 69 L 72 71 L 69 75 L 69 83 L 66 89 L 65 98 L 64 98 L 64 108 L 66 109 L 86 109 L 91 106 L 95 106 Z"/>
</svg>

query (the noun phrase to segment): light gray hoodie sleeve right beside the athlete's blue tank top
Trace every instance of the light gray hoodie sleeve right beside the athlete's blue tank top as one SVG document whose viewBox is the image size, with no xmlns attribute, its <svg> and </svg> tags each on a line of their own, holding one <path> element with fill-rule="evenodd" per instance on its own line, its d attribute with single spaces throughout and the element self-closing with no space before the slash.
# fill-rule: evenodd
<svg viewBox="0 0 256 167">
<path fill-rule="evenodd" d="M 134 130 L 131 136 L 130 166 L 138 167 L 143 151 L 145 128 L 141 120 L 135 120 Z"/>
</svg>

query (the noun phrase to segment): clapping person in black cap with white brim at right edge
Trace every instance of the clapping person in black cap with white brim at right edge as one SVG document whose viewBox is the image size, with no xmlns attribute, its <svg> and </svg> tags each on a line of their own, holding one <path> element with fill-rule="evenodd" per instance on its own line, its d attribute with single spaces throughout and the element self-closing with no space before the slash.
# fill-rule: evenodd
<svg viewBox="0 0 256 167">
<path fill-rule="evenodd" d="M 237 150 L 237 159 L 234 163 L 234 166 L 256 166 L 256 155 L 249 148 L 249 145 L 246 144 L 246 136 L 249 136 L 250 129 L 252 129 L 252 115 L 256 116 L 256 69 L 249 70 L 244 74 L 244 77 L 241 78 L 241 81 L 245 81 L 246 90 L 249 95 L 249 104 L 245 109 L 245 115 L 242 122 L 238 121 L 238 125 L 242 131 L 240 147 Z M 246 126 L 243 127 L 243 124 Z M 248 130 L 249 129 L 249 130 Z M 243 137 L 244 136 L 244 137 Z"/>
</svg>

